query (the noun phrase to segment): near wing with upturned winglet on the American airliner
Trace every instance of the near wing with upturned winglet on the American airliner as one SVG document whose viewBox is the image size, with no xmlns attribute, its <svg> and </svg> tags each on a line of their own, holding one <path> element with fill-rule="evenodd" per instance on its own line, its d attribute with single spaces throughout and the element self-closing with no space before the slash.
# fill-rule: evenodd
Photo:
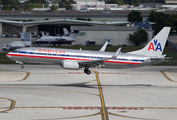
<svg viewBox="0 0 177 120">
<path fill-rule="evenodd" d="M 78 63 L 82 66 L 84 65 L 89 65 L 89 66 L 96 66 L 96 67 L 100 67 L 100 66 L 104 66 L 104 61 L 106 60 L 111 60 L 111 59 L 116 59 L 118 54 L 120 53 L 121 48 L 119 48 L 115 54 L 107 59 L 100 59 L 100 60 L 87 60 L 87 61 L 78 61 Z"/>
</svg>

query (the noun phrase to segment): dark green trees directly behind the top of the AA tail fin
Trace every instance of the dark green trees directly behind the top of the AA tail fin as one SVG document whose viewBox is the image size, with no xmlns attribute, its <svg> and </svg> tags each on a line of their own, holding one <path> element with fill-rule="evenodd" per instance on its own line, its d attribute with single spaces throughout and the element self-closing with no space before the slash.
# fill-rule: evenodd
<svg viewBox="0 0 177 120">
<path fill-rule="evenodd" d="M 155 25 L 152 26 L 154 29 L 154 34 L 156 35 L 164 26 L 170 26 L 169 22 L 170 15 L 166 13 L 159 13 L 155 11 L 151 11 L 148 16 L 148 20 L 150 22 L 155 22 Z"/>
</svg>

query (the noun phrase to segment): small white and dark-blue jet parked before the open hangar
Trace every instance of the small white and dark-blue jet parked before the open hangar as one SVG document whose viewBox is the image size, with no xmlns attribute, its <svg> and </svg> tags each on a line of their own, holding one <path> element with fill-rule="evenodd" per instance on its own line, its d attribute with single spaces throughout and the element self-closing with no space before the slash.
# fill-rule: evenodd
<svg viewBox="0 0 177 120">
<path fill-rule="evenodd" d="M 33 44 L 58 44 L 58 46 L 60 46 L 60 44 L 76 42 L 76 36 L 79 33 L 78 30 L 74 30 L 72 33 L 69 33 L 66 29 L 63 30 L 64 35 L 61 37 L 45 36 L 45 34 L 42 32 L 42 37 L 34 41 Z"/>
</svg>

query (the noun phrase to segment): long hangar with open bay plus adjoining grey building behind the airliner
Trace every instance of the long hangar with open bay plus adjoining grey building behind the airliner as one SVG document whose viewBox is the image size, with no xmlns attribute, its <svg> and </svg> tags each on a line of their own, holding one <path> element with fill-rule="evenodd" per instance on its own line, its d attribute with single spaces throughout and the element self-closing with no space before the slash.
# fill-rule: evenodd
<svg viewBox="0 0 177 120">
<path fill-rule="evenodd" d="M 9 20 L 0 20 L 0 35 L 19 36 L 20 33 L 37 33 L 38 31 L 47 31 L 51 35 L 63 34 L 63 28 L 69 31 L 79 30 L 77 41 L 73 45 L 103 45 L 109 41 L 110 45 L 133 45 L 127 38 L 138 29 L 143 28 L 148 33 L 148 40 L 153 36 L 153 30 L 149 22 L 142 25 L 127 26 L 129 22 L 94 22 L 81 20 L 45 20 L 32 22 L 15 22 Z"/>
</svg>

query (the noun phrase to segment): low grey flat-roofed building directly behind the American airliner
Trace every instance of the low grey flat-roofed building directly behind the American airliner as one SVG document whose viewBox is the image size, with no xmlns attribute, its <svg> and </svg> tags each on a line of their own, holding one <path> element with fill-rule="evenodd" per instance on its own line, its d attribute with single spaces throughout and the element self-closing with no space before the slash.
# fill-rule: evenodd
<svg viewBox="0 0 177 120">
<path fill-rule="evenodd" d="M 133 34 L 138 31 L 138 27 L 72 26 L 72 30 L 79 30 L 77 41 L 72 43 L 73 45 L 103 45 L 106 41 L 108 41 L 108 44 L 113 46 L 133 46 L 134 44 L 127 39 L 129 34 Z M 153 30 L 151 28 L 144 30 L 148 33 L 148 41 L 150 41 L 153 36 Z"/>
</svg>

